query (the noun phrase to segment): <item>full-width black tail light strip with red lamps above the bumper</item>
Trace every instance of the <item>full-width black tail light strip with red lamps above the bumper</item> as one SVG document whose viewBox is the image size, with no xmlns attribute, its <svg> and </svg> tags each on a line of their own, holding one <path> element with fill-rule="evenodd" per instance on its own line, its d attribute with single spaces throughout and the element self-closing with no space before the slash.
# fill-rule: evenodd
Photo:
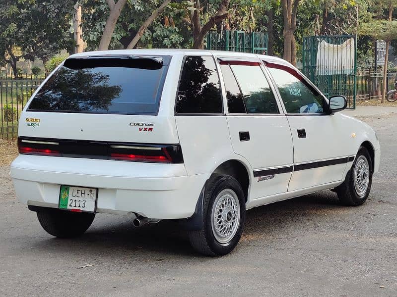
<svg viewBox="0 0 397 297">
<path fill-rule="evenodd" d="M 180 145 L 18 138 L 21 154 L 155 163 L 183 163 Z"/>
</svg>

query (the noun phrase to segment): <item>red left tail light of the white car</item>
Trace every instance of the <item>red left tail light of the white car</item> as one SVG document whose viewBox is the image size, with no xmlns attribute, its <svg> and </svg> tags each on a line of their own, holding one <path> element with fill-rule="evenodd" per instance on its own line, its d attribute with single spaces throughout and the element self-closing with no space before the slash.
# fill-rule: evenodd
<svg viewBox="0 0 397 297">
<path fill-rule="evenodd" d="M 34 154 L 44 156 L 59 156 L 59 143 L 49 141 L 34 141 L 18 139 L 18 151 L 22 154 Z"/>
</svg>

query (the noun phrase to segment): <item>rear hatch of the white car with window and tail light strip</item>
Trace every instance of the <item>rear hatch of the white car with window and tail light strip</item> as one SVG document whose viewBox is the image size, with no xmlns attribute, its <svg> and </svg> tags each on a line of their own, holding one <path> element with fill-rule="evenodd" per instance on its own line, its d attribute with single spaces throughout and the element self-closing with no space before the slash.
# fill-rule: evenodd
<svg viewBox="0 0 397 297">
<path fill-rule="evenodd" d="M 21 115 L 21 153 L 182 163 L 173 115 L 159 114 L 171 56 L 66 59 Z"/>
</svg>

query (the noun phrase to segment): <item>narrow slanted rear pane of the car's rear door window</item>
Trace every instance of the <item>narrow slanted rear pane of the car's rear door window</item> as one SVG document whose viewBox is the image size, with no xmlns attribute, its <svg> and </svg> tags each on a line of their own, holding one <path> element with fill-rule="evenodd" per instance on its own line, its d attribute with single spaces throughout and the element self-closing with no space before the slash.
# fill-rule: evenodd
<svg viewBox="0 0 397 297">
<path fill-rule="evenodd" d="M 247 113 L 245 110 L 243 95 L 237 84 L 236 78 L 229 64 L 221 64 L 223 81 L 225 83 L 227 106 L 230 113 Z"/>
</svg>

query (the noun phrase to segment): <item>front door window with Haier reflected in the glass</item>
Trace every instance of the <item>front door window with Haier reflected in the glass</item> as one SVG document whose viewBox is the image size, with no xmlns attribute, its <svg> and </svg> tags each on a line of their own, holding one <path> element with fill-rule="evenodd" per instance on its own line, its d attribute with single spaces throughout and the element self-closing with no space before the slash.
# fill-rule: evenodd
<svg viewBox="0 0 397 297">
<path fill-rule="evenodd" d="M 293 68 L 266 64 L 287 113 L 323 113 L 324 98 Z"/>
</svg>

